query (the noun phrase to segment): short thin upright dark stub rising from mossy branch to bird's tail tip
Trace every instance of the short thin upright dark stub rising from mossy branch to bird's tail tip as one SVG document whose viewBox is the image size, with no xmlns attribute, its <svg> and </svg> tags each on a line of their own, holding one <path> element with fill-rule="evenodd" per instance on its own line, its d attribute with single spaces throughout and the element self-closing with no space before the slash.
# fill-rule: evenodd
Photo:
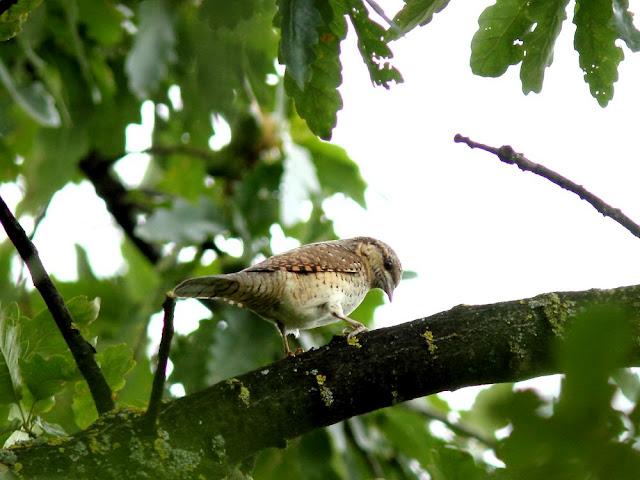
<svg viewBox="0 0 640 480">
<path fill-rule="evenodd" d="M 153 377 L 153 387 L 151 396 L 149 397 L 149 406 L 145 413 L 145 430 L 147 433 L 155 432 L 156 421 L 158 420 L 158 412 L 160 411 L 160 403 L 162 394 L 164 393 L 164 384 L 167 377 L 167 362 L 169 361 L 169 353 L 171 352 L 171 339 L 173 338 L 173 311 L 176 306 L 176 299 L 167 295 L 162 308 L 164 310 L 164 325 L 162 327 L 162 337 L 160 346 L 158 347 L 158 366 L 156 374 Z"/>
</svg>

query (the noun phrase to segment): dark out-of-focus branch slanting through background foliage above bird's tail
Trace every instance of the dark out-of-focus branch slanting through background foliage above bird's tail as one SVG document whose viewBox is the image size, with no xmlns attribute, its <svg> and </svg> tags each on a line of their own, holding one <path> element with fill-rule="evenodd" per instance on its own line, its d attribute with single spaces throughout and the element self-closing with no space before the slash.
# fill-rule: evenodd
<svg viewBox="0 0 640 480">
<path fill-rule="evenodd" d="M 136 205 L 129 201 L 128 192 L 111 172 L 113 161 L 103 158 L 92 151 L 80 161 L 80 169 L 96 189 L 96 193 L 105 201 L 107 209 L 124 233 L 147 259 L 156 264 L 160 253 L 156 247 L 135 234 Z"/>
</svg>

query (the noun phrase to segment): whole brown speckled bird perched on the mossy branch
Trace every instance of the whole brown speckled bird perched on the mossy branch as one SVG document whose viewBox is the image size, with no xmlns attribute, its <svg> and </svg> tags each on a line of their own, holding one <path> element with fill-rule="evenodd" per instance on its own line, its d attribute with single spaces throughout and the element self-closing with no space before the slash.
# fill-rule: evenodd
<svg viewBox="0 0 640 480">
<path fill-rule="evenodd" d="M 348 338 L 367 328 L 349 318 L 371 288 L 392 299 L 402 266 L 387 244 L 370 237 L 312 243 L 275 255 L 240 272 L 195 277 L 175 297 L 221 299 L 247 307 L 276 324 L 285 353 L 289 333 L 343 320 Z"/>
</svg>

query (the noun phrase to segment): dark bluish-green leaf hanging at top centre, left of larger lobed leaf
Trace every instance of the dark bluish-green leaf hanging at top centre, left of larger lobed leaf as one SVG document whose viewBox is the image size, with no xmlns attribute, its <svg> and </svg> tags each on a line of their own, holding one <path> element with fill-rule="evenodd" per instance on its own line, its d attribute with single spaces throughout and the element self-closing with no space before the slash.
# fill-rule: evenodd
<svg viewBox="0 0 640 480">
<path fill-rule="evenodd" d="M 278 59 L 296 87 L 304 91 L 320 34 L 331 19 L 331 7 L 326 0 L 279 0 L 278 14 L 282 32 Z"/>
</svg>

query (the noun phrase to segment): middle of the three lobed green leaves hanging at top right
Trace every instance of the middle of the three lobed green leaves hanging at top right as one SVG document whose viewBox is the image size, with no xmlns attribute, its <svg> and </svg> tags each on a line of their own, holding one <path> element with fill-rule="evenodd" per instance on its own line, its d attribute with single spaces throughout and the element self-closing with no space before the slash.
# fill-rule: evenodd
<svg viewBox="0 0 640 480">
<path fill-rule="evenodd" d="M 529 5 L 529 16 L 535 23 L 533 31 L 524 35 L 525 56 L 520 68 L 522 91 L 540 93 L 545 69 L 553 61 L 553 47 L 567 18 L 569 0 L 543 0 Z"/>
</svg>

